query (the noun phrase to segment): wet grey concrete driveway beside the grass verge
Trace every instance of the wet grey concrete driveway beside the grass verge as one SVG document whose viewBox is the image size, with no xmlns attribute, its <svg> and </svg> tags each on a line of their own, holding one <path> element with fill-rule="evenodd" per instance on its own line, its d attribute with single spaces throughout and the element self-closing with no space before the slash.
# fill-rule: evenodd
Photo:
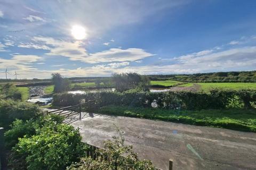
<svg viewBox="0 0 256 170">
<path fill-rule="evenodd" d="M 83 141 L 102 146 L 117 134 L 116 124 L 140 158 L 163 170 L 169 158 L 173 169 L 256 169 L 256 133 L 121 116 L 84 117 L 71 123 L 80 128 Z"/>
</svg>

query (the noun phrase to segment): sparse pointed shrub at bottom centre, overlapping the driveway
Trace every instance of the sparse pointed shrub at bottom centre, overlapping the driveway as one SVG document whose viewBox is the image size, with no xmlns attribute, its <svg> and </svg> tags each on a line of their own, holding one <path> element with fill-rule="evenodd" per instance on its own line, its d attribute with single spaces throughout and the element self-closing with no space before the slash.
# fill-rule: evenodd
<svg viewBox="0 0 256 170">
<path fill-rule="evenodd" d="M 124 137 L 118 130 L 118 137 L 104 142 L 103 149 L 98 149 L 98 157 L 93 160 L 91 157 L 81 158 L 79 163 L 74 163 L 67 169 L 155 169 L 149 160 L 139 160 L 137 154 L 133 152 L 132 146 L 124 145 Z M 108 157 L 108 160 L 105 158 Z M 127 167 L 127 168 L 126 168 Z"/>
</svg>

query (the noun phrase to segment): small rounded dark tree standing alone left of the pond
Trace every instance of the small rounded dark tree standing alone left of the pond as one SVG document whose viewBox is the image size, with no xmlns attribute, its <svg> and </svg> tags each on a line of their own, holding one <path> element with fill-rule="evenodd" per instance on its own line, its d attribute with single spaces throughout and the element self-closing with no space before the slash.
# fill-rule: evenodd
<svg viewBox="0 0 256 170">
<path fill-rule="evenodd" d="M 52 73 L 52 82 L 54 84 L 53 92 L 55 93 L 67 91 L 70 88 L 70 81 L 64 79 L 60 73 Z"/>
</svg>

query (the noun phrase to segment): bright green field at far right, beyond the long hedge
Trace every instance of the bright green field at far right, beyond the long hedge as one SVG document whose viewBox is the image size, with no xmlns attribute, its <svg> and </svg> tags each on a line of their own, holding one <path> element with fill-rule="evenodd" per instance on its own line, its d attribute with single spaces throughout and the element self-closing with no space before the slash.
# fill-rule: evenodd
<svg viewBox="0 0 256 170">
<path fill-rule="evenodd" d="M 201 86 L 201 89 L 208 91 L 211 88 L 224 88 L 224 89 L 255 89 L 256 83 L 197 83 Z"/>
</svg>

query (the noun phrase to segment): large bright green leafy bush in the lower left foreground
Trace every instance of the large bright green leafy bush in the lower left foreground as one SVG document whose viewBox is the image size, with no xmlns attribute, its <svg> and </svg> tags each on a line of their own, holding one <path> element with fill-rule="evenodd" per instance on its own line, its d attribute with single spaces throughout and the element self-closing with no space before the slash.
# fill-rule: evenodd
<svg viewBox="0 0 256 170">
<path fill-rule="evenodd" d="M 19 138 L 13 151 L 25 157 L 27 169 L 65 169 L 84 156 L 87 145 L 81 139 L 73 126 L 48 122 L 36 135 Z"/>
</svg>

